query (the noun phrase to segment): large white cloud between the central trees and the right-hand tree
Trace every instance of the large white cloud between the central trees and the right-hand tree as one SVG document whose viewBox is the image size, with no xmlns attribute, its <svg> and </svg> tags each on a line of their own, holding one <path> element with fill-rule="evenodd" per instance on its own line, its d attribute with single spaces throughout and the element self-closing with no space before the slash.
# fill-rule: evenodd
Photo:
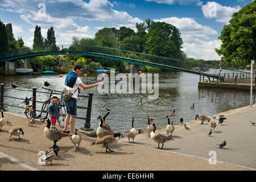
<svg viewBox="0 0 256 182">
<path fill-rule="evenodd" d="M 179 28 L 181 38 L 183 39 L 183 51 L 189 57 L 204 60 L 219 60 L 220 57 L 214 51 L 215 48 L 220 48 L 220 40 L 211 40 L 209 36 L 217 35 L 217 31 L 208 26 L 203 26 L 193 18 L 162 18 L 154 19 L 154 22 L 166 22 Z M 196 56 L 195 56 L 196 55 Z"/>
</svg>

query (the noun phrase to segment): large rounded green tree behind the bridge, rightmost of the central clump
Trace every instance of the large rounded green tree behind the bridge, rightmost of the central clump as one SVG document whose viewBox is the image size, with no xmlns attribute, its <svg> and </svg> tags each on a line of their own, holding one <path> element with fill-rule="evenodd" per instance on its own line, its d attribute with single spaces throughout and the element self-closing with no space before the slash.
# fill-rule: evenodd
<svg viewBox="0 0 256 182">
<path fill-rule="evenodd" d="M 157 56 L 180 59 L 182 56 L 179 29 L 165 22 L 152 23 L 148 31 L 148 53 Z"/>
</svg>

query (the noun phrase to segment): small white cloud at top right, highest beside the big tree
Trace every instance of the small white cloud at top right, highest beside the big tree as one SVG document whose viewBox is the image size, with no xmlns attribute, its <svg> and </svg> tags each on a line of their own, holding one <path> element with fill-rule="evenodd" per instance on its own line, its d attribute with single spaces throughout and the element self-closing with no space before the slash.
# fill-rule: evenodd
<svg viewBox="0 0 256 182">
<path fill-rule="evenodd" d="M 201 6 L 205 18 L 214 18 L 216 22 L 228 24 L 232 18 L 232 14 L 241 9 L 240 6 L 222 6 L 217 2 L 207 2 Z"/>
</svg>

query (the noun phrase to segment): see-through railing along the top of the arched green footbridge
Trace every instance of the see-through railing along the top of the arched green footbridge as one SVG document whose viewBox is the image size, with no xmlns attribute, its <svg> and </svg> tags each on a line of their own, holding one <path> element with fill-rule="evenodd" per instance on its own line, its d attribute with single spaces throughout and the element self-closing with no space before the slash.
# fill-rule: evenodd
<svg viewBox="0 0 256 182">
<path fill-rule="evenodd" d="M 57 46 L 47 47 L 47 48 L 38 47 L 34 50 L 25 48 L 25 49 L 20 49 L 18 51 L 13 51 L 13 52 L 0 53 L 0 61 L 1 60 L 4 61 L 9 57 L 27 55 L 30 53 L 49 52 L 49 54 L 51 54 L 51 52 L 56 52 L 56 51 L 60 52 L 60 54 L 61 52 L 63 53 L 67 53 L 67 52 L 98 53 L 102 55 L 112 55 L 116 57 L 124 57 L 124 58 L 129 58 L 134 60 L 147 61 L 147 62 L 156 63 L 156 64 L 169 65 L 171 67 L 193 70 L 195 72 L 206 72 L 211 75 L 220 74 L 220 68 L 210 64 L 195 63 L 187 60 L 172 59 L 170 57 L 148 55 L 146 53 L 126 51 L 122 49 L 108 48 L 108 47 L 89 46 L 89 45 L 67 45 L 66 44 L 66 45 L 57 45 Z M 228 73 L 232 74 L 232 72 L 236 73 L 241 71 L 233 71 L 233 69 L 225 68 L 226 76 L 228 75 Z M 224 70 L 221 73 L 224 73 Z"/>
</svg>

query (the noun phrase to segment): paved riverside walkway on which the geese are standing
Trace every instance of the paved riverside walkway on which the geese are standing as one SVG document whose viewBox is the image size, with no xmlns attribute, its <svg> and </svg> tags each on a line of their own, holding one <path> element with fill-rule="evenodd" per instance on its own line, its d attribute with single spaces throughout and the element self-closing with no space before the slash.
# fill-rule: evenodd
<svg viewBox="0 0 256 182">
<path fill-rule="evenodd" d="M 3 126 L 0 133 L 0 170 L 256 170 L 256 125 L 250 125 L 250 120 L 256 121 L 255 111 L 256 105 L 253 105 L 215 114 L 217 118 L 223 114 L 228 119 L 222 126 L 218 119 L 213 119 L 217 127 L 211 137 L 207 135 L 208 122 L 201 125 L 200 121 L 189 121 L 186 123 L 189 131 L 183 125 L 175 125 L 172 134 L 175 140 L 165 143 L 163 150 L 157 148 L 158 144 L 147 133 L 142 133 L 135 137 L 134 143 L 129 143 L 127 137 L 120 139 L 116 146 L 110 147 L 114 152 L 106 153 L 100 145 L 90 146 L 96 138 L 79 131 L 80 150 L 76 151 L 70 138 L 62 138 L 57 142 L 61 157 L 53 161 L 54 165 L 38 163 L 38 152 L 49 150 L 53 144 L 43 135 L 46 123 L 36 120 L 35 125 L 28 126 L 28 119 L 23 115 L 5 112 L 5 118 L 12 124 Z M 9 142 L 8 130 L 13 126 L 23 128 L 22 140 L 13 136 L 14 141 Z M 164 129 L 156 132 L 167 135 Z M 216 144 L 224 139 L 226 146 L 218 148 Z M 210 151 L 216 152 L 216 164 L 208 162 L 212 156 Z"/>
</svg>

